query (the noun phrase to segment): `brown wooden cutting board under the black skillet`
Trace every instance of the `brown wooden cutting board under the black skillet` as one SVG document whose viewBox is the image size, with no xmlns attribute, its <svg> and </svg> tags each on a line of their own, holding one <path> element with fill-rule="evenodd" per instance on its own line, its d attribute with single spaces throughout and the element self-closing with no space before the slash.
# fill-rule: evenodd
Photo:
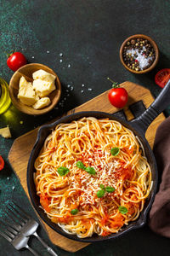
<svg viewBox="0 0 170 256">
<path fill-rule="evenodd" d="M 139 114 L 144 112 L 145 108 L 148 108 L 151 102 L 154 101 L 153 96 L 150 94 L 150 90 L 145 89 L 139 84 L 133 84 L 131 82 L 124 82 L 121 84 L 122 87 L 125 87 L 128 92 L 128 102 L 127 106 L 122 110 L 114 108 L 111 103 L 108 101 L 107 94 L 108 91 L 105 91 L 103 94 L 95 97 L 94 99 L 82 104 L 81 106 L 72 109 L 66 114 L 76 113 L 80 111 L 103 111 L 106 113 L 115 113 L 116 116 L 119 116 L 122 119 L 133 119 L 139 116 Z M 57 118 L 56 118 L 57 119 Z M 165 119 L 163 113 L 161 113 L 150 125 L 146 132 L 146 138 L 150 143 L 150 147 L 153 147 L 154 138 L 156 135 L 157 126 Z M 36 141 L 38 128 L 26 133 L 25 135 L 18 137 L 9 151 L 8 160 L 10 165 L 13 167 L 14 172 L 20 180 L 23 189 L 28 195 L 28 190 L 26 186 L 26 169 L 29 156 L 31 153 L 31 148 Z M 29 142 L 29 143 L 28 143 Z M 39 218 L 39 216 L 38 216 Z M 69 252 L 77 252 L 82 247 L 86 247 L 88 243 L 73 241 L 64 236 L 59 235 L 47 224 L 45 224 L 41 218 L 39 218 L 44 229 L 48 233 L 49 239 L 57 246 L 65 249 Z"/>
</svg>

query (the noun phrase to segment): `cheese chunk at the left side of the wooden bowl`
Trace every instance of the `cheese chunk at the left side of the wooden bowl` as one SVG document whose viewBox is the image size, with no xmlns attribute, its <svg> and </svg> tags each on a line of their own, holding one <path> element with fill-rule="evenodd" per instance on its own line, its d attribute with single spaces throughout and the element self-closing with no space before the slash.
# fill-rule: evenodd
<svg viewBox="0 0 170 256">
<path fill-rule="evenodd" d="M 27 106 L 31 106 L 37 102 L 36 92 L 33 90 L 31 83 L 26 81 L 24 77 L 20 78 L 18 98 L 20 102 Z"/>
</svg>

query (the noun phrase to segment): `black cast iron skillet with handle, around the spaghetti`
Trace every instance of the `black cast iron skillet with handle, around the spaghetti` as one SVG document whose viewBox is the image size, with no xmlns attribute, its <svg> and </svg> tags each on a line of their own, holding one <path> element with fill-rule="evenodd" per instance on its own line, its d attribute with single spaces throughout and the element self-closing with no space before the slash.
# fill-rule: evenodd
<svg viewBox="0 0 170 256">
<path fill-rule="evenodd" d="M 31 197 L 31 202 L 33 206 L 35 207 L 37 213 L 42 218 L 42 220 L 48 224 L 53 230 L 57 231 L 60 235 L 66 236 L 70 239 L 77 240 L 77 241 L 86 241 L 86 242 L 94 242 L 94 241 L 104 241 L 113 239 L 117 236 L 122 236 L 122 234 L 126 233 L 129 230 L 133 230 L 136 228 L 139 228 L 144 225 L 146 222 L 146 215 L 150 210 L 150 207 L 152 205 L 152 202 L 154 200 L 154 197 L 156 195 L 156 185 L 157 185 L 157 168 L 156 168 L 156 160 L 154 157 L 154 154 L 152 153 L 150 149 L 150 145 L 147 142 L 147 140 L 144 137 L 145 131 L 147 130 L 150 123 L 156 119 L 156 116 L 161 113 L 170 103 L 170 80 L 168 81 L 167 85 L 164 87 L 163 90 L 161 90 L 160 95 L 156 98 L 156 101 L 153 102 L 150 105 L 150 108 L 146 109 L 144 113 L 139 116 L 139 118 L 134 119 L 133 121 L 127 123 L 122 121 L 122 119 L 117 119 L 111 115 L 111 113 L 103 113 L 103 112 L 95 112 L 95 111 L 89 111 L 89 112 L 80 112 L 80 113 L 73 113 L 71 115 L 65 116 L 61 119 L 56 120 L 53 124 L 49 125 L 43 125 L 37 134 L 37 141 L 32 148 L 30 160 L 28 163 L 27 168 L 27 186 L 29 195 Z M 43 210 L 39 207 L 40 201 L 39 196 L 37 196 L 36 193 L 36 187 L 33 179 L 33 173 L 35 172 L 34 169 L 34 162 L 37 159 L 37 156 L 42 148 L 42 145 L 48 137 L 48 134 L 51 133 L 51 131 L 54 129 L 56 125 L 59 125 L 59 123 L 70 123 L 72 120 L 81 119 L 82 117 L 89 117 L 93 116 L 97 119 L 103 119 L 103 118 L 109 118 L 109 119 L 115 119 L 122 123 L 122 125 L 126 126 L 128 129 L 132 130 L 136 136 L 139 137 L 140 141 L 143 143 L 144 151 L 147 157 L 147 160 L 150 163 L 151 172 L 152 172 L 152 181 L 153 186 L 150 191 L 150 195 L 145 201 L 144 204 L 144 210 L 140 213 L 139 218 L 128 224 L 126 227 L 122 227 L 122 230 L 120 230 L 116 234 L 112 234 L 111 236 L 97 236 L 94 235 L 92 237 L 88 238 L 78 238 L 75 235 L 69 235 L 65 233 L 64 230 L 61 230 L 57 224 L 54 224 L 51 222 L 51 220 L 46 216 L 46 214 L 43 212 Z"/>
</svg>

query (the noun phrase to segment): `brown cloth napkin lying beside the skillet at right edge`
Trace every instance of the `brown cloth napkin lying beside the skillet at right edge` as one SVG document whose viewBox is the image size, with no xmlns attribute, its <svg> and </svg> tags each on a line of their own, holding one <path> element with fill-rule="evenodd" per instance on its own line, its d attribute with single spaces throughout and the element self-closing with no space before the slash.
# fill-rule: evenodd
<svg viewBox="0 0 170 256">
<path fill-rule="evenodd" d="M 170 117 L 156 131 L 153 148 L 161 184 L 150 210 L 150 229 L 170 238 Z"/>
</svg>

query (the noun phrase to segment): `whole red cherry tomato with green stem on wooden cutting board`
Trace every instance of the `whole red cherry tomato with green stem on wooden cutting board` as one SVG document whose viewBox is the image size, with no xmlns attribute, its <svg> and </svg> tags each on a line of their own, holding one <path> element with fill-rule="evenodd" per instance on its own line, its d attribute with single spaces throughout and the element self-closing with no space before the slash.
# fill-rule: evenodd
<svg viewBox="0 0 170 256">
<path fill-rule="evenodd" d="M 127 104 L 127 90 L 122 87 L 112 88 L 108 94 L 109 101 L 116 108 L 123 108 Z"/>
</svg>

